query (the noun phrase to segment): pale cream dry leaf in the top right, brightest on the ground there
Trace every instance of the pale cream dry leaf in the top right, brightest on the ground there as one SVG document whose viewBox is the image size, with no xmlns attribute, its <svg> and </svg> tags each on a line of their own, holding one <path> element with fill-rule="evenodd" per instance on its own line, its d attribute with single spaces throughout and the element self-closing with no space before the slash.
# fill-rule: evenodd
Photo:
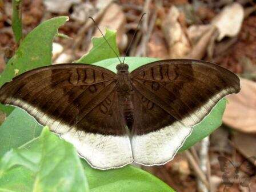
<svg viewBox="0 0 256 192">
<path fill-rule="evenodd" d="M 219 30 L 218 41 L 225 36 L 234 37 L 236 36 L 242 26 L 245 11 L 242 5 L 239 3 L 233 3 L 223 8 L 211 22 Z"/>
</svg>

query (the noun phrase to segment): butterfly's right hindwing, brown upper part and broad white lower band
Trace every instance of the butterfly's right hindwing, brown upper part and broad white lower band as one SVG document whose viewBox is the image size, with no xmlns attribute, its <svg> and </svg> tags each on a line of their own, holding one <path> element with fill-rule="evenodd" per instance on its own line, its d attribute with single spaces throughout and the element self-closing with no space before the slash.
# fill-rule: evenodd
<svg viewBox="0 0 256 192">
<path fill-rule="evenodd" d="M 131 146 L 134 161 L 143 165 L 161 165 L 170 161 L 192 128 L 175 122 L 169 113 L 139 93 L 136 87 L 133 98 Z"/>
</svg>

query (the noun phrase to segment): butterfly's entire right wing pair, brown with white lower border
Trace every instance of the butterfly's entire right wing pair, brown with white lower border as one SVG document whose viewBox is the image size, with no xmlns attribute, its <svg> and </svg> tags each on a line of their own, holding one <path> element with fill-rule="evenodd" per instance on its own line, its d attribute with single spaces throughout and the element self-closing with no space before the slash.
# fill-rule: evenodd
<svg viewBox="0 0 256 192">
<path fill-rule="evenodd" d="M 229 70 L 190 59 L 149 63 L 132 71 L 130 78 L 136 103 L 132 147 L 135 161 L 142 164 L 169 161 L 191 126 L 201 122 L 220 99 L 240 89 L 239 78 Z M 151 155 L 155 159 L 149 162 Z"/>
</svg>

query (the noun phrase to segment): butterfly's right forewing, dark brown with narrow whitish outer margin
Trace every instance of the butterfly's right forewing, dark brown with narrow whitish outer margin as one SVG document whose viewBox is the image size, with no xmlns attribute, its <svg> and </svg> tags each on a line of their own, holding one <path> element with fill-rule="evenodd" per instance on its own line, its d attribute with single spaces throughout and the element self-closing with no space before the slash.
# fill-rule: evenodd
<svg viewBox="0 0 256 192">
<path fill-rule="evenodd" d="M 186 126 L 201 122 L 221 98 L 240 90 L 239 78 L 230 71 L 188 59 L 147 64 L 131 79 L 137 93 Z"/>
</svg>

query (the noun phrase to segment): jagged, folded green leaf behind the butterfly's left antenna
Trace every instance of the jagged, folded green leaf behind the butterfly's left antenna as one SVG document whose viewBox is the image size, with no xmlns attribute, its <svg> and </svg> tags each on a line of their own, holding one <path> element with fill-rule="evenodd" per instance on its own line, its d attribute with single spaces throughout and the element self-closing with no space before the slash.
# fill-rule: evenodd
<svg viewBox="0 0 256 192">
<path fill-rule="evenodd" d="M 115 31 L 106 29 L 105 38 L 111 47 L 115 50 L 115 53 L 119 55 L 117 43 L 115 42 Z M 109 45 L 103 37 L 93 37 L 91 41 L 93 42 L 93 48 L 89 51 L 88 54 L 83 55 L 83 57 L 75 61 L 75 63 L 91 64 L 103 59 L 117 57 L 114 51 L 110 49 Z"/>
</svg>

